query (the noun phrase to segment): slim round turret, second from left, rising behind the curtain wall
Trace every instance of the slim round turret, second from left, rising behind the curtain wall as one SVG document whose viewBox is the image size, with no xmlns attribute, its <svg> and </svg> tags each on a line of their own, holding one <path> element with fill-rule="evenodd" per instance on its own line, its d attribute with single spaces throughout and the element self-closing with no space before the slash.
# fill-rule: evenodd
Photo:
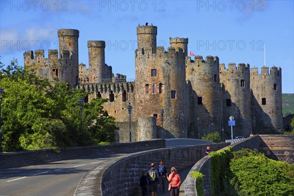
<svg viewBox="0 0 294 196">
<path fill-rule="evenodd" d="M 89 71 L 92 83 L 101 82 L 105 67 L 105 42 L 88 41 Z"/>
</svg>

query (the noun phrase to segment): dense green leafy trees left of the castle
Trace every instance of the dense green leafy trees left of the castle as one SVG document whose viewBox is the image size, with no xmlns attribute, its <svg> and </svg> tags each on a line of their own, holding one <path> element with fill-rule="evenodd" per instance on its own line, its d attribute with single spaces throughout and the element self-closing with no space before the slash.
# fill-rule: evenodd
<svg viewBox="0 0 294 196">
<path fill-rule="evenodd" d="M 68 83 L 40 79 L 13 59 L 0 62 L 2 151 L 97 145 L 114 142 L 115 119 L 103 116 L 103 98 L 68 90 Z M 78 98 L 84 98 L 82 121 Z"/>
</svg>

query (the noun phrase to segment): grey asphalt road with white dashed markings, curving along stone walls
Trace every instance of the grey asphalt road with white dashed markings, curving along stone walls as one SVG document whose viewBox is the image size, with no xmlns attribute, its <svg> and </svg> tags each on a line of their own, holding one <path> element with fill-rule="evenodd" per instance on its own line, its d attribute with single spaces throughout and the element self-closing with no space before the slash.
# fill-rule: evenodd
<svg viewBox="0 0 294 196">
<path fill-rule="evenodd" d="M 0 196 L 73 196 L 88 171 L 121 156 L 123 154 L 0 170 Z"/>
</svg>

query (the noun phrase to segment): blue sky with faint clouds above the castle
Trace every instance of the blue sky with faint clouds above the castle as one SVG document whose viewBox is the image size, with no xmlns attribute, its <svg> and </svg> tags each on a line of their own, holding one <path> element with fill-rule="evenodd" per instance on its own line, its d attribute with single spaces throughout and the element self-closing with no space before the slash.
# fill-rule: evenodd
<svg viewBox="0 0 294 196">
<path fill-rule="evenodd" d="M 189 38 L 196 54 L 250 68 L 282 68 L 282 93 L 294 93 L 293 0 L 35 0 L 0 1 L 0 56 L 5 65 L 27 50 L 58 49 L 57 29 L 78 29 L 79 63 L 88 66 L 88 40 L 104 40 L 113 73 L 135 78 L 138 24 L 157 26 L 157 46 Z M 46 52 L 47 50 L 47 52 Z"/>
</svg>

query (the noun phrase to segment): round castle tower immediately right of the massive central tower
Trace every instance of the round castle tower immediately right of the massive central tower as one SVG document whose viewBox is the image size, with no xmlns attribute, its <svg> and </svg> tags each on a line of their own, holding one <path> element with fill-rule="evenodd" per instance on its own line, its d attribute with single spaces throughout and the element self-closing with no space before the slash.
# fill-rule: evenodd
<svg viewBox="0 0 294 196">
<path fill-rule="evenodd" d="M 186 57 L 186 80 L 190 86 L 190 125 L 189 135 L 200 137 L 204 133 L 220 131 L 220 72 L 217 56 Z M 199 130 L 197 118 L 199 117 Z M 196 131 L 198 130 L 198 131 Z"/>
</svg>

